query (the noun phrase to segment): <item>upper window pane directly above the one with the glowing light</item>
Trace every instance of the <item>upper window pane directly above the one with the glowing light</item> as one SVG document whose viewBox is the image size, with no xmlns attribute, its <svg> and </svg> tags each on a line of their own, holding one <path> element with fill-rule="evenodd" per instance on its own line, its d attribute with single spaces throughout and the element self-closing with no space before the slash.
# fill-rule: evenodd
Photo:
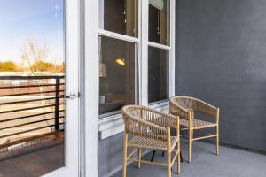
<svg viewBox="0 0 266 177">
<path fill-rule="evenodd" d="M 99 0 L 102 29 L 137 37 L 137 0 Z"/>
</svg>

